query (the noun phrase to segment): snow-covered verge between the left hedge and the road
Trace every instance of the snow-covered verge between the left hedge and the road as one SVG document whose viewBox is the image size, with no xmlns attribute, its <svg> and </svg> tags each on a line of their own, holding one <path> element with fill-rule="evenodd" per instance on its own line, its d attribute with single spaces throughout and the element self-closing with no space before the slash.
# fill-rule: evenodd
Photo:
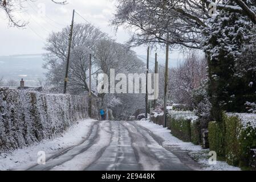
<svg viewBox="0 0 256 182">
<path fill-rule="evenodd" d="M 79 121 L 55 139 L 42 140 L 38 144 L 15 150 L 10 154 L 0 154 L 0 170 L 26 169 L 37 164 L 39 151 L 44 151 L 46 158 L 49 158 L 64 148 L 79 144 L 86 137 L 94 122 L 94 119 Z"/>
</svg>

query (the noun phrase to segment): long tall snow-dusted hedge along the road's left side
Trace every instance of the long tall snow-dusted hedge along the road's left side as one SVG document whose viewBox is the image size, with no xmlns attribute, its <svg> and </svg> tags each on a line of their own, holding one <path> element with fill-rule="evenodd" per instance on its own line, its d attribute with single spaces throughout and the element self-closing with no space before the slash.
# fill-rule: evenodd
<svg viewBox="0 0 256 182">
<path fill-rule="evenodd" d="M 0 89 L 0 151 L 53 138 L 87 117 L 86 96 Z"/>
</svg>

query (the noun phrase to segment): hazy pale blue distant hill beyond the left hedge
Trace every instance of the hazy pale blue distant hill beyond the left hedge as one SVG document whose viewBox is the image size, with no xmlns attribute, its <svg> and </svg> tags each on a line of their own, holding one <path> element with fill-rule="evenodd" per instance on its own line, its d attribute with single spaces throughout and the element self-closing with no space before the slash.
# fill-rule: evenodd
<svg viewBox="0 0 256 182">
<path fill-rule="evenodd" d="M 0 76 L 5 80 L 21 80 L 24 78 L 26 86 L 35 86 L 36 79 L 44 77 L 45 69 L 42 68 L 42 55 L 11 55 L 0 56 Z"/>
</svg>

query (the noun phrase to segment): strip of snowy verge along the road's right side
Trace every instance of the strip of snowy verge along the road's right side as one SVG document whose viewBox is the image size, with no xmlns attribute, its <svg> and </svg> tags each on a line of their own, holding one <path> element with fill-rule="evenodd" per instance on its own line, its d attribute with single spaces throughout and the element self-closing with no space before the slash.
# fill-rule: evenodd
<svg viewBox="0 0 256 182">
<path fill-rule="evenodd" d="M 201 146 L 196 146 L 190 142 L 183 142 L 182 140 L 177 139 L 176 137 L 173 137 L 173 135 L 170 134 L 170 130 L 168 130 L 167 128 L 164 128 L 160 125 L 157 125 L 149 121 L 137 121 L 137 124 L 147 128 L 148 130 L 151 130 L 153 134 L 161 137 L 164 140 L 164 143 L 163 143 L 164 146 L 175 146 L 175 147 L 181 148 L 181 150 L 188 150 L 189 155 L 192 156 L 192 158 L 197 159 L 198 163 L 204 166 L 202 168 L 203 170 L 214 170 L 214 171 L 241 170 L 238 167 L 230 166 L 226 162 L 221 162 L 221 161 L 217 161 L 216 165 L 209 164 L 208 162 L 208 159 L 210 158 L 210 156 L 208 155 L 209 150 L 204 150 L 201 148 Z"/>
</svg>

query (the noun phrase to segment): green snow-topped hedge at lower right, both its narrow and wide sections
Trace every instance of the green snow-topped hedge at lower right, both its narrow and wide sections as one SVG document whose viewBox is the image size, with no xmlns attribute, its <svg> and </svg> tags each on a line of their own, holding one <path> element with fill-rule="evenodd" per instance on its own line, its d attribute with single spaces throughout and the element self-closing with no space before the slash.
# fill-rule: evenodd
<svg viewBox="0 0 256 182">
<path fill-rule="evenodd" d="M 210 150 L 228 164 L 250 167 L 251 149 L 256 148 L 256 114 L 224 113 L 222 119 L 224 123 L 209 123 Z"/>
</svg>

